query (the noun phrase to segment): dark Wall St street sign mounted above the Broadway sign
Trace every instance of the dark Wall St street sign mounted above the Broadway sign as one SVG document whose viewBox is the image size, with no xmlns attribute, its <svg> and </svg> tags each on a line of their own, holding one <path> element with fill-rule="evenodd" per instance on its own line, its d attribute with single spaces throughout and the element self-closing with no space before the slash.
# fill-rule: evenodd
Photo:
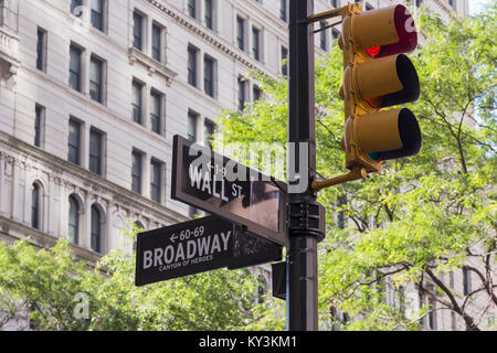
<svg viewBox="0 0 497 353">
<path fill-rule="evenodd" d="M 287 185 L 176 135 L 171 197 L 286 246 Z"/>
</svg>

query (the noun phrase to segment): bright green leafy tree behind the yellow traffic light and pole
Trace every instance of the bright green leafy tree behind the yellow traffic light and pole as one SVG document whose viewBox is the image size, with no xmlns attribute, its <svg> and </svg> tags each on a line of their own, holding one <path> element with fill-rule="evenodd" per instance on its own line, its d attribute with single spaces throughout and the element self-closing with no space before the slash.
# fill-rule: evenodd
<svg viewBox="0 0 497 353">
<path fill-rule="evenodd" d="M 448 24 L 419 14 L 424 43 L 413 62 L 422 97 L 410 108 L 420 120 L 423 150 L 389 162 L 381 175 L 319 194 L 327 207 L 327 238 L 319 247 L 322 322 L 336 321 L 331 312 L 339 309 L 355 318 L 345 329 L 414 330 L 419 319 L 448 310 L 469 330 L 486 328 L 484 314 L 497 306 L 495 15 L 495 1 L 486 13 L 453 18 Z M 321 178 L 345 172 L 341 63 L 338 47 L 316 63 Z M 252 77 L 262 83 L 267 99 L 243 113 L 225 111 L 218 133 L 223 143 L 246 143 L 247 149 L 254 141 L 284 143 L 286 79 Z M 233 157 L 251 164 L 240 150 Z M 285 175 L 281 172 L 279 178 Z M 475 286 L 452 288 L 447 278 L 454 271 L 470 274 Z M 429 298 L 421 309 L 406 310 L 408 286 Z M 395 298 L 387 298 L 392 290 Z M 474 311 L 477 299 L 484 304 Z"/>
</svg>

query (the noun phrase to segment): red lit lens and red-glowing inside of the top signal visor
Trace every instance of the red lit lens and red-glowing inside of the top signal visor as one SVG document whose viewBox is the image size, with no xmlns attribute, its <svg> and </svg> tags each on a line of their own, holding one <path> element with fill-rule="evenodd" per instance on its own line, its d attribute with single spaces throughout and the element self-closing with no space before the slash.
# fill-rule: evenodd
<svg viewBox="0 0 497 353">
<path fill-rule="evenodd" d="M 409 10 L 398 4 L 393 11 L 393 22 L 395 25 L 396 35 L 399 42 L 382 45 L 372 46 L 366 50 L 366 53 L 371 57 L 384 57 L 389 55 L 395 55 L 401 53 L 410 53 L 417 46 L 417 31 L 414 24 L 414 19 Z"/>
</svg>

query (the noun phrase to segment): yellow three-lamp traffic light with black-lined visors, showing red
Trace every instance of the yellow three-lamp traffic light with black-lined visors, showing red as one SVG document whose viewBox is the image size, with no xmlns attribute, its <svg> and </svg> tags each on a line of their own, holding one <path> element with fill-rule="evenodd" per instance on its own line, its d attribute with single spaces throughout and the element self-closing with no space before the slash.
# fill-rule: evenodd
<svg viewBox="0 0 497 353">
<path fill-rule="evenodd" d="M 362 11 L 349 3 L 342 14 L 345 135 L 341 147 L 352 172 L 380 172 L 385 160 L 416 154 L 421 131 L 406 108 L 417 100 L 420 82 L 403 53 L 417 46 L 414 20 L 404 6 Z M 362 173 L 363 174 L 363 171 Z"/>
</svg>

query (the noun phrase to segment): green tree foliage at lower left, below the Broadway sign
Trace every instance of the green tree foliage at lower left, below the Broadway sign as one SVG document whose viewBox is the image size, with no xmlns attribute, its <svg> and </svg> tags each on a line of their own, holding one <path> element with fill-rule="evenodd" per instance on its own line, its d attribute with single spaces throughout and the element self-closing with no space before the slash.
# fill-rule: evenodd
<svg viewBox="0 0 497 353">
<path fill-rule="evenodd" d="M 24 313 L 36 330 L 240 329 L 253 320 L 257 285 L 246 269 L 221 269 L 138 288 L 121 250 L 94 266 L 65 239 L 50 249 L 0 242 L 0 328 Z"/>
</svg>

